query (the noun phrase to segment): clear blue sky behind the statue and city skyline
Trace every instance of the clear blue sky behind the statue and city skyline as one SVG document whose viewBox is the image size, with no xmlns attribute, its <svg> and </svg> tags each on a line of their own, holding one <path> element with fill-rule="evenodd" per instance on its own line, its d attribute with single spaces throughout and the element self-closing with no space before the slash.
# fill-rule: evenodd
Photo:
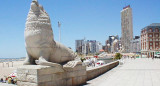
<svg viewBox="0 0 160 86">
<path fill-rule="evenodd" d="M 0 58 L 26 54 L 24 29 L 31 0 L 3 0 L 0 3 Z M 75 49 L 75 40 L 97 40 L 105 44 L 109 35 L 121 35 L 120 11 L 130 4 L 134 36 L 143 27 L 160 22 L 160 0 L 39 0 L 51 18 L 54 39 L 57 22 L 62 23 L 61 42 Z"/>
</svg>

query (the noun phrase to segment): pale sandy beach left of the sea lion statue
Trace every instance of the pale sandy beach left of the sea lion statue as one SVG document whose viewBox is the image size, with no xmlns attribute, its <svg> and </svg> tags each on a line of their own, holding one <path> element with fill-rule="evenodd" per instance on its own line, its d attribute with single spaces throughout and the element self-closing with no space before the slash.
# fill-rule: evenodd
<svg viewBox="0 0 160 86">
<path fill-rule="evenodd" d="M 18 66 L 21 65 L 23 65 L 23 61 L 1 62 L 0 78 L 5 78 L 4 76 L 8 76 L 9 74 L 13 73 L 13 71 L 16 70 Z"/>
</svg>

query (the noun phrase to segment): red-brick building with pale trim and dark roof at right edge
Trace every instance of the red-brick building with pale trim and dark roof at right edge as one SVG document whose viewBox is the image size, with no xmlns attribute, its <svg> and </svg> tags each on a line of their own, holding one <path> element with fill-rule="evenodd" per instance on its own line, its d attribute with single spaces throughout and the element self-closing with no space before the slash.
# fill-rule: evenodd
<svg viewBox="0 0 160 86">
<path fill-rule="evenodd" d="M 142 57 L 154 57 L 160 51 L 160 23 L 153 23 L 141 30 Z"/>
</svg>

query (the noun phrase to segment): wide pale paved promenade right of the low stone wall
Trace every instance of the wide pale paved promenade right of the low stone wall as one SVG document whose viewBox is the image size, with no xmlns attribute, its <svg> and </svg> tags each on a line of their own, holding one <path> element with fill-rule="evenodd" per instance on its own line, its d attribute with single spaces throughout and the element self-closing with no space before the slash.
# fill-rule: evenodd
<svg viewBox="0 0 160 86">
<path fill-rule="evenodd" d="M 160 86 L 160 59 L 125 59 L 84 86 Z"/>
</svg>

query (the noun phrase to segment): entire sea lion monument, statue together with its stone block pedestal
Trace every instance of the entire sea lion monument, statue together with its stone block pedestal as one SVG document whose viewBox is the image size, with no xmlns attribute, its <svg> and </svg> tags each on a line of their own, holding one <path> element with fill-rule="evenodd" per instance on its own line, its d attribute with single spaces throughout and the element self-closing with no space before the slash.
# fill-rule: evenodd
<svg viewBox="0 0 160 86">
<path fill-rule="evenodd" d="M 27 56 L 17 69 L 18 86 L 77 86 L 86 83 L 86 67 L 76 54 L 53 39 L 50 18 L 33 0 L 25 27 Z"/>
</svg>

